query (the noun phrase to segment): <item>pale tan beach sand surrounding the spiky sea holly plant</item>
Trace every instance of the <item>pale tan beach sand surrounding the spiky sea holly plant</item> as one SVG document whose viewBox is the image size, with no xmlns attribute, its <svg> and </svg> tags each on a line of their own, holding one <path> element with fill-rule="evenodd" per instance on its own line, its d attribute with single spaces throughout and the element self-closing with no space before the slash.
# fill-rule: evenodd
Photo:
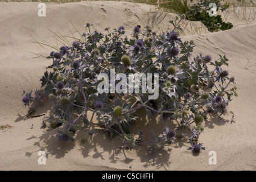
<svg viewBox="0 0 256 182">
<path fill-rule="evenodd" d="M 44 49 L 38 42 L 63 46 L 57 35 L 76 36 L 84 32 L 84 24 L 104 32 L 105 27 L 125 26 L 131 31 L 136 24 L 149 24 L 158 31 L 170 26 L 175 14 L 158 11 L 157 7 L 127 2 L 79 2 L 47 4 L 46 17 L 38 16 L 38 3 L 0 3 L 0 170 L 255 170 L 256 169 L 256 22 L 241 23 L 232 30 L 208 32 L 200 22 L 184 31 L 183 40 L 193 40 L 195 53 L 218 54 L 229 59 L 230 75 L 236 78 L 238 97 L 228 106 L 226 122 L 211 121 L 200 134 L 199 142 L 205 150 L 192 155 L 185 141 L 151 153 L 146 146 L 136 150 L 119 150 L 121 141 L 109 139 L 109 134 L 96 126 L 86 127 L 76 142 L 60 142 L 56 129 L 42 127 L 42 119 L 49 116 L 52 103 L 45 99 L 36 114 L 26 118 L 22 104 L 23 90 L 40 89 L 40 76 L 51 60 L 52 48 Z M 230 18 L 236 23 L 235 18 Z M 191 22 L 183 22 L 190 24 Z M 196 27 L 199 27 L 196 28 Z M 201 27 L 201 28 L 200 28 Z M 32 52 L 32 53 L 31 53 Z M 143 113 L 143 109 L 141 110 Z M 232 114 L 234 121 L 231 123 Z M 142 114 L 143 115 L 143 114 Z M 93 118 L 95 119 L 95 118 Z M 138 128 L 159 128 L 161 123 L 148 123 L 144 117 Z M 92 138 L 88 131 L 94 131 Z M 148 131 L 148 133 L 150 133 Z M 150 136 L 150 134 L 148 134 Z M 39 151 L 46 152 L 46 164 L 39 165 Z M 210 165 L 209 152 L 216 151 L 217 164 Z"/>
</svg>

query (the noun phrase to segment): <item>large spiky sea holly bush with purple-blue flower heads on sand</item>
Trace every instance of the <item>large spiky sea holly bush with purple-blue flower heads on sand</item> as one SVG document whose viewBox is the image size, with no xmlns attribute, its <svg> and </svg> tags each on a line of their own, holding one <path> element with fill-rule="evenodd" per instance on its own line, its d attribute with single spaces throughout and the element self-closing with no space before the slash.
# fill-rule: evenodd
<svg viewBox="0 0 256 182">
<path fill-rule="evenodd" d="M 157 151 L 187 138 L 192 151 L 199 152 L 202 144 L 196 146 L 195 141 L 204 122 L 211 122 L 209 116 L 221 119 L 237 88 L 226 70 L 225 56 L 216 61 L 210 55 L 192 56 L 195 44 L 179 36 L 181 19 L 184 15 L 177 23 L 170 21 L 173 30 L 159 34 L 148 26 L 135 26 L 130 33 L 123 26 L 106 28 L 102 34 L 91 32 L 93 24 L 87 23 L 84 40 L 49 54 L 52 64 L 40 79 L 44 92 L 36 91 L 35 96 L 24 92 L 24 105 L 42 104 L 40 98 L 48 96 L 55 103 L 49 127 L 57 129 L 63 142 L 75 140 L 83 125 L 95 122 L 88 118 L 92 112 L 97 124 L 110 137 L 121 138 L 130 150 L 147 144 Z M 143 131 L 133 129 L 138 109 L 164 123 L 162 133 L 152 131 L 153 140 L 145 140 Z"/>
</svg>

